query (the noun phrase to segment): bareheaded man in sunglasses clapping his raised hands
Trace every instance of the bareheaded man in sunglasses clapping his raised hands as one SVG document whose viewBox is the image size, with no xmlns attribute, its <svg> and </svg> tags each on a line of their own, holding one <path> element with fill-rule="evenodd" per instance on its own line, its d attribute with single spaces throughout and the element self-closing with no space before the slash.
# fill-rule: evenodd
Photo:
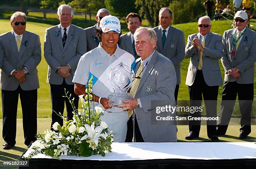
<svg viewBox="0 0 256 169">
<path fill-rule="evenodd" d="M 186 85 L 189 87 L 191 106 L 200 107 L 204 98 L 207 117 L 217 116 L 217 98 L 219 85 L 223 84 L 218 60 L 222 57 L 221 35 L 210 32 L 211 20 L 203 16 L 198 20 L 199 33 L 189 35 L 185 48 L 185 58 L 190 58 Z M 201 117 L 200 111 L 191 114 Z M 217 121 L 207 121 L 207 135 L 212 141 L 218 141 Z M 199 137 L 200 121 L 189 121 L 189 134 L 185 139 Z"/>
</svg>

